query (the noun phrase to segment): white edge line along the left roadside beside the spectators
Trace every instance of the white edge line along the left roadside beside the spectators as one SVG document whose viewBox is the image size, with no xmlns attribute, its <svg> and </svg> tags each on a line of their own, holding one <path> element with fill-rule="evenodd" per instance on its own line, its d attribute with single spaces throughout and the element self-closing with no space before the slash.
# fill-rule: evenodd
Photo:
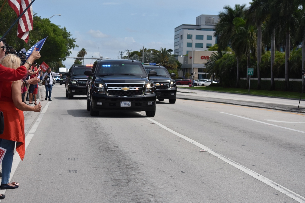
<svg viewBox="0 0 305 203">
<path fill-rule="evenodd" d="M 47 111 L 49 105 L 50 105 L 51 102 L 48 102 L 45 107 L 42 109 L 42 111 L 40 112 L 39 116 L 38 116 L 38 119 L 36 120 L 36 122 L 34 123 L 34 125 L 31 127 L 29 133 L 27 134 L 27 137 L 25 137 L 25 150 L 27 150 L 27 146 L 29 146 L 30 144 L 30 141 L 32 140 L 41 120 L 42 120 L 42 117 L 45 115 L 45 112 Z M 11 170 L 11 174 L 10 174 L 10 178 L 9 178 L 9 182 L 11 182 L 12 180 L 12 177 L 14 176 L 14 173 L 20 163 L 21 159 L 20 159 L 20 156 L 18 153 L 15 153 L 14 155 L 14 158 L 13 158 L 13 164 L 12 164 L 12 170 Z M 1 190 L 1 194 L 5 194 L 5 191 L 6 190 Z M 1 202 L 1 200 L 0 200 Z"/>
</svg>

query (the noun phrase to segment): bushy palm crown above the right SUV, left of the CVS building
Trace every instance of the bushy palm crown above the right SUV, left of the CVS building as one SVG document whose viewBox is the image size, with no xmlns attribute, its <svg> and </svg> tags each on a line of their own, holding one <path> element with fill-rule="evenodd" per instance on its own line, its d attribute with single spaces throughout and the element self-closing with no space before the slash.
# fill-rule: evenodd
<svg viewBox="0 0 305 203">
<path fill-rule="evenodd" d="M 178 66 L 175 57 L 170 55 L 170 52 L 168 52 L 166 48 L 162 47 L 160 51 L 157 51 L 152 60 L 156 63 L 160 63 L 161 66 L 164 66 L 167 69 L 175 69 Z"/>
</svg>

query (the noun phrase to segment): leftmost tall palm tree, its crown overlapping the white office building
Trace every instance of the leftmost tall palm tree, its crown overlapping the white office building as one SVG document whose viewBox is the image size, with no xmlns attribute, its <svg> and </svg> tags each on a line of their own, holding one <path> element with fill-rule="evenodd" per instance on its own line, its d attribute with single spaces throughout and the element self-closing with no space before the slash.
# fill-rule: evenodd
<svg viewBox="0 0 305 203">
<path fill-rule="evenodd" d="M 231 36 L 234 33 L 234 24 L 233 20 L 236 17 L 243 17 L 244 12 L 245 12 L 245 7 L 246 4 L 235 4 L 234 9 L 229 6 L 225 5 L 224 6 L 224 11 L 221 11 L 219 13 L 219 20 L 218 23 L 215 26 L 215 37 L 219 37 L 219 49 L 224 50 L 230 43 L 231 43 Z M 238 49 L 233 48 L 233 51 L 235 52 L 236 55 L 236 61 L 237 61 L 237 79 L 236 79 L 236 87 L 239 87 L 239 54 Z"/>
</svg>

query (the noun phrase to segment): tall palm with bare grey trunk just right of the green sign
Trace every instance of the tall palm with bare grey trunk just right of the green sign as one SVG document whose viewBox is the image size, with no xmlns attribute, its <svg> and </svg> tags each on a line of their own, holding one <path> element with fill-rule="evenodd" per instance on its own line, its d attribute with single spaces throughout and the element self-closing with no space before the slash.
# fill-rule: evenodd
<svg viewBox="0 0 305 203">
<path fill-rule="evenodd" d="M 262 23 L 266 20 L 266 13 L 262 9 L 264 0 L 253 0 L 246 12 L 251 24 L 257 27 L 257 89 L 260 89 L 260 61 L 262 58 Z"/>
</svg>

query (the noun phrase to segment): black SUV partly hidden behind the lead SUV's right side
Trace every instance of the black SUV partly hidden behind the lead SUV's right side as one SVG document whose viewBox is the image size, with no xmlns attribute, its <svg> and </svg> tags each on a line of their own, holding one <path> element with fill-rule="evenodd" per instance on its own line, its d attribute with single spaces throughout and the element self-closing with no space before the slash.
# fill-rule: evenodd
<svg viewBox="0 0 305 203">
<path fill-rule="evenodd" d="M 152 70 L 157 72 L 157 75 L 150 77 L 156 86 L 157 99 L 160 102 L 163 102 L 164 99 L 168 99 L 170 104 L 174 104 L 176 102 L 177 87 L 175 80 L 171 79 L 171 77 L 175 77 L 176 74 L 169 74 L 167 69 L 163 66 L 144 67 L 147 73 Z"/>
</svg>

